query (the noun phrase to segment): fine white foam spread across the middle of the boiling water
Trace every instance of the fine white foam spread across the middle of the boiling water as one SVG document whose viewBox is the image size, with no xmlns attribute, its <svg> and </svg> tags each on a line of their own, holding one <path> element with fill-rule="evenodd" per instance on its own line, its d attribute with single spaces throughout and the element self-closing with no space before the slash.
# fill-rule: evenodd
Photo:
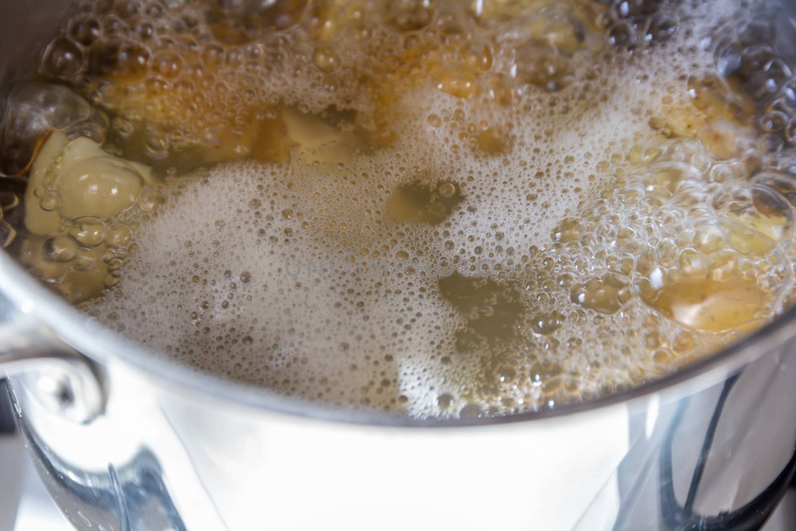
<svg viewBox="0 0 796 531">
<path fill-rule="evenodd" d="M 731 5 L 721 2 L 716 16 Z M 650 355 L 650 339 L 639 330 L 651 330 L 650 319 L 657 319 L 652 329 L 658 334 L 673 337 L 680 329 L 641 304 L 613 316 L 572 307 L 568 290 L 555 283 L 560 275 L 587 278 L 605 270 L 599 252 L 615 248 L 598 241 L 599 234 L 593 246 L 573 247 L 569 255 L 540 249 L 552 248 L 552 231 L 564 217 L 596 208 L 616 167 L 600 162 L 626 154 L 633 143 L 649 143 L 656 133 L 648 122 L 661 112 L 663 97 L 685 98 L 681 75 L 712 64 L 711 53 L 693 42 L 716 18 L 697 11 L 692 36 L 681 27 L 681 41 L 643 57 L 616 52 L 602 64 L 578 65 L 579 72 L 594 67 L 595 78 L 581 77 L 552 95 L 529 88 L 516 106 L 457 100 L 429 85 L 413 89 L 404 96 L 402 119 L 392 124 L 396 143 L 356 154 L 345 166 L 294 157 L 283 165 L 230 163 L 182 178 L 181 192 L 172 183 L 169 205 L 137 232 L 139 253 L 123 271 L 121 287 L 92 311 L 123 334 L 211 373 L 415 416 L 455 413 L 470 402 L 496 411 L 538 408 L 544 394 L 534 383 L 533 371 L 540 369 L 533 363 L 545 353 L 581 375 L 573 395 L 631 381 L 634 369 L 651 364 L 642 359 Z M 583 92 L 585 99 L 578 97 Z M 551 112 L 553 102 L 572 112 Z M 451 150 L 450 120 L 434 127 L 428 116 L 445 121 L 457 110 L 467 121 L 487 119 L 511 131 L 511 150 L 494 156 Z M 385 215 L 391 193 L 419 175 L 461 186 L 461 209 L 442 224 L 399 223 Z M 638 214 L 611 208 L 631 225 Z M 416 259 L 416 274 L 396 274 L 399 251 Z M 491 395 L 472 385 L 483 379 L 477 374 L 483 367 L 455 348 L 465 316 L 440 297 L 438 278 L 421 271 L 455 256 L 524 262 L 517 296 L 525 325 L 563 312 L 564 324 L 552 336 L 521 332 L 529 352 L 515 369 L 525 371 L 525 379 L 509 378 L 511 385 L 497 385 Z M 352 261 L 358 265 L 345 265 Z M 590 373 L 598 364 L 603 369 Z M 450 408 L 437 403 L 444 393 L 453 396 Z"/>
</svg>

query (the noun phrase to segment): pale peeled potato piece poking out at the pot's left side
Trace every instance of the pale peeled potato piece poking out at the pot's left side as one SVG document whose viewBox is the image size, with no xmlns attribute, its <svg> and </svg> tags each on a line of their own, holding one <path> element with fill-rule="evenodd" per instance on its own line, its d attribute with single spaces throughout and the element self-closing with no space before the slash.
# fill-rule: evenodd
<svg viewBox="0 0 796 531">
<path fill-rule="evenodd" d="M 25 228 L 30 236 L 21 247 L 22 263 L 70 303 L 96 299 L 114 282 L 106 262 L 115 253 L 109 238 L 97 236 L 96 243 L 90 242 L 92 235 L 81 236 L 80 228 L 74 229 L 78 234 L 73 237 L 67 225 L 80 219 L 111 223 L 135 205 L 144 185 L 157 180 L 149 167 L 107 154 L 90 139 L 68 140 L 64 133 L 51 131 L 33 160 L 25 190 Z M 57 197 L 54 209 L 42 208 L 39 195 L 44 189 Z M 127 240 L 129 230 L 117 228 L 111 243 Z"/>
</svg>

